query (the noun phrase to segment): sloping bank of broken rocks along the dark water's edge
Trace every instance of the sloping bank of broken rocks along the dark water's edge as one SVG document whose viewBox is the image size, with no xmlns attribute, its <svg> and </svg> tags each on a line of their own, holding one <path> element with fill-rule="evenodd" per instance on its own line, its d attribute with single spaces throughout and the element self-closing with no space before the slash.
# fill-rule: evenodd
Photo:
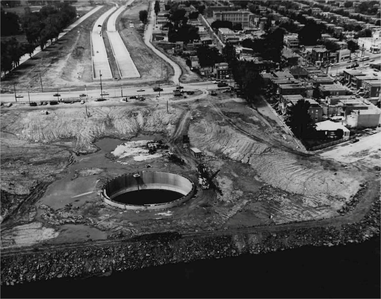
<svg viewBox="0 0 381 299">
<path fill-rule="evenodd" d="M 164 233 L 135 237 L 117 245 L 84 246 L 1 258 L 0 285 L 53 278 L 84 278 L 114 271 L 258 254 L 306 245 L 360 243 L 380 234 L 380 200 L 359 223 L 226 236 L 186 237 Z"/>
</svg>

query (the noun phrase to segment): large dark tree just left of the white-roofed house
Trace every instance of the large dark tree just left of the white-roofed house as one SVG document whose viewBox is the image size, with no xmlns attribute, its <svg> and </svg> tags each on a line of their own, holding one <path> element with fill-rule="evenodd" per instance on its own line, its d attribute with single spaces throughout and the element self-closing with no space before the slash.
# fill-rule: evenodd
<svg viewBox="0 0 381 299">
<path fill-rule="evenodd" d="M 315 131 L 314 122 L 309 114 L 310 103 L 299 100 L 288 111 L 288 125 L 297 138 L 304 138 Z"/>
</svg>

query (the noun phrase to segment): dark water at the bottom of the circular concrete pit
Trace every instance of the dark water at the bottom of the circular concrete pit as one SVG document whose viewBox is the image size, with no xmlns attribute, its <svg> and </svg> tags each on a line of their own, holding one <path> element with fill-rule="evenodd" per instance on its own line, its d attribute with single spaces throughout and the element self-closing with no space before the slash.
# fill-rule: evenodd
<svg viewBox="0 0 381 299">
<path fill-rule="evenodd" d="M 123 193 L 113 197 L 112 200 L 124 204 L 143 205 L 171 202 L 182 196 L 181 193 L 170 190 L 144 189 Z"/>
</svg>

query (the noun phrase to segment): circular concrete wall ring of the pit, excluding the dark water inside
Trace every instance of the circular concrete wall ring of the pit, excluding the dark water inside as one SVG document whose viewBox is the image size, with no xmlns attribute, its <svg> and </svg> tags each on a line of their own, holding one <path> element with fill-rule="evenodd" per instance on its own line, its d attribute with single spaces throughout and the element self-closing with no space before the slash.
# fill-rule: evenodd
<svg viewBox="0 0 381 299">
<path fill-rule="evenodd" d="M 134 178 L 136 173 L 129 173 L 108 181 L 102 186 L 101 197 L 108 205 L 131 210 L 158 210 L 167 209 L 182 204 L 195 194 L 195 184 L 186 177 L 167 172 L 142 171 L 137 174 L 139 178 Z M 156 204 L 124 204 L 114 201 L 118 195 L 143 189 L 170 190 L 183 196 L 179 199 Z"/>
</svg>

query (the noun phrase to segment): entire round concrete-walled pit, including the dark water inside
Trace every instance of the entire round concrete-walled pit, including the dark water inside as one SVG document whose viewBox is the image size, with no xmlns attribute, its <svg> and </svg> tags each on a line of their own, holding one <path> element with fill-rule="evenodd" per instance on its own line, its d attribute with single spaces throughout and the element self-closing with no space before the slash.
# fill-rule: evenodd
<svg viewBox="0 0 381 299">
<path fill-rule="evenodd" d="M 131 210 L 158 210 L 178 206 L 195 193 L 186 177 L 167 172 L 129 173 L 102 186 L 102 200 L 111 206 Z"/>
</svg>

